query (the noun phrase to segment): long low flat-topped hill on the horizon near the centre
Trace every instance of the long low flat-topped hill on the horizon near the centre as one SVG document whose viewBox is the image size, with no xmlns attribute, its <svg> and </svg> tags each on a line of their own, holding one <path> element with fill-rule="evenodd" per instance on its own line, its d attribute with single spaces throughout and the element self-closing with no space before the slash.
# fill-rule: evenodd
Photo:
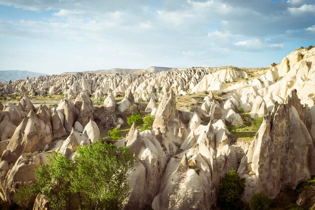
<svg viewBox="0 0 315 210">
<path fill-rule="evenodd" d="M 84 73 L 94 73 L 94 74 L 131 74 L 135 72 L 147 72 L 147 73 L 159 73 L 164 71 L 169 71 L 170 67 L 159 67 L 159 66 L 150 66 L 148 68 L 112 68 L 112 69 L 100 69 L 96 71 L 86 71 Z M 76 72 L 65 72 L 62 74 L 75 74 Z"/>
</svg>

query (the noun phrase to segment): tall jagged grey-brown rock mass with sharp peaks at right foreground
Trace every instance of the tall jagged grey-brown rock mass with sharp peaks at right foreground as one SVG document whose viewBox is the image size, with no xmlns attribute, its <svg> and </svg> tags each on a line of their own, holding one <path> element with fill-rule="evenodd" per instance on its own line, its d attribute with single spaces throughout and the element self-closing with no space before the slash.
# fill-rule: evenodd
<svg viewBox="0 0 315 210">
<path fill-rule="evenodd" d="M 246 178 L 243 198 L 264 192 L 273 198 L 281 187 L 293 189 L 315 173 L 315 149 L 310 134 L 301 120 L 304 114 L 296 92 L 285 104 L 275 104 L 266 115 L 238 172 Z M 296 109 L 297 107 L 297 109 Z"/>
</svg>

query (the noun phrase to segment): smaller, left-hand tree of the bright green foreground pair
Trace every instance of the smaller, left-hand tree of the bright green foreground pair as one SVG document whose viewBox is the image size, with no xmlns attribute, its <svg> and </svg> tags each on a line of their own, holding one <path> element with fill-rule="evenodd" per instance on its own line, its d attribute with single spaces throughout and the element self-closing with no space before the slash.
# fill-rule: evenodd
<svg viewBox="0 0 315 210">
<path fill-rule="evenodd" d="M 60 153 L 48 157 L 49 165 L 42 164 L 35 171 L 37 193 L 47 197 L 51 209 L 66 209 L 71 206 L 70 182 L 74 166 Z M 35 190 L 36 191 L 36 190 Z"/>
</svg>

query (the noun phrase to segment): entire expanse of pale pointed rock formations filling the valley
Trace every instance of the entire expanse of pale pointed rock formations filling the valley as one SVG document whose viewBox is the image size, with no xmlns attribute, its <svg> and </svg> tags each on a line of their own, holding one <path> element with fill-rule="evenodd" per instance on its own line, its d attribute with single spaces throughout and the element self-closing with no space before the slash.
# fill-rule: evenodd
<svg viewBox="0 0 315 210">
<path fill-rule="evenodd" d="M 155 116 L 151 130 L 140 131 L 133 124 L 115 143 L 129 147 L 136 159 L 124 209 L 209 209 L 230 169 L 246 178 L 245 201 L 259 192 L 274 198 L 284 186 L 294 189 L 315 175 L 314 63 L 312 48 L 295 50 L 251 77 L 246 69 L 234 67 L 174 68 L 40 76 L 2 85 L 1 94 L 24 94 L 20 102 L 0 103 L 0 196 L 11 200 L 18 186 L 34 182 L 34 170 L 52 151 L 73 160 L 77 147 L 101 138 L 93 96 L 105 98 L 102 110 L 114 127 L 123 124 L 135 106 L 141 114 Z M 26 93 L 67 98 L 50 110 L 45 105 L 35 108 Z M 191 94 L 196 94 L 193 99 Z M 123 99 L 116 104 L 115 97 Z M 177 110 L 181 97 L 194 100 L 194 107 Z M 147 102 L 145 109 L 140 106 Z M 121 113 L 113 119 L 109 115 L 116 113 L 116 105 Z M 247 114 L 263 116 L 263 123 L 249 146 L 232 146 L 226 125 L 242 124 Z M 67 138 L 59 139 L 66 132 Z M 312 199 L 306 194 L 311 193 L 300 194 L 301 205 Z M 48 209 L 42 195 L 34 209 Z"/>
</svg>

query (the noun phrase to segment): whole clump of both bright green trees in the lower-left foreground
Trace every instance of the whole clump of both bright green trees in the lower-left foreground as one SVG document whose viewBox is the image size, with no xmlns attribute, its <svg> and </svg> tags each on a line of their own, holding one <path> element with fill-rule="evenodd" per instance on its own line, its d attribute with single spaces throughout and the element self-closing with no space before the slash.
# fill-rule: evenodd
<svg viewBox="0 0 315 210">
<path fill-rule="evenodd" d="M 53 153 L 50 165 L 40 165 L 34 192 L 45 195 L 52 210 L 121 209 L 130 190 L 127 172 L 134 164 L 128 147 L 97 141 L 76 153 L 74 163 Z"/>
</svg>

